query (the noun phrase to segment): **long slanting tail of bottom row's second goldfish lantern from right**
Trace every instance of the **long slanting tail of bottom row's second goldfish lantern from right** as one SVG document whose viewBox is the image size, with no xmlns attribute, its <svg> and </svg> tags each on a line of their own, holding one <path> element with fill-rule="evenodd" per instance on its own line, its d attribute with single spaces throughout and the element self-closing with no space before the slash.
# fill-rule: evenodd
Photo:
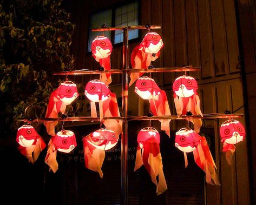
<svg viewBox="0 0 256 205">
<path fill-rule="evenodd" d="M 220 185 L 218 176 L 216 174 L 214 163 L 211 151 L 207 145 L 205 137 L 202 137 L 201 143 L 198 144 L 198 147 L 193 151 L 195 163 L 205 171 L 206 182 L 210 184 Z"/>
</svg>

